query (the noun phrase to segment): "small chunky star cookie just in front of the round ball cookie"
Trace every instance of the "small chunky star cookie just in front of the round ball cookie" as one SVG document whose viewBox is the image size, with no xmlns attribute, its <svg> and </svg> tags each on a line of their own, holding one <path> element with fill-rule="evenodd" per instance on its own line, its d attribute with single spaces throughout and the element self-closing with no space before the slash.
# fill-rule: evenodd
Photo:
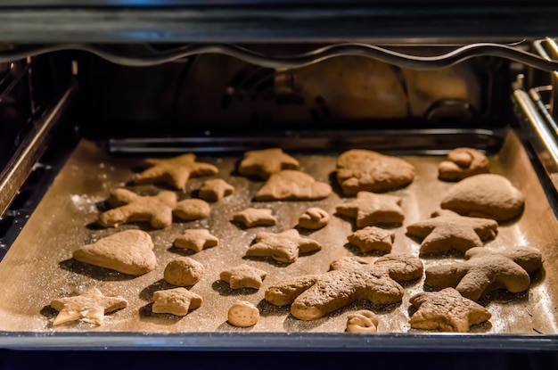
<svg viewBox="0 0 558 370">
<path fill-rule="evenodd" d="M 185 288 L 168 289 L 153 293 L 152 312 L 186 316 L 189 310 L 199 308 L 201 303 L 201 296 Z"/>
</svg>

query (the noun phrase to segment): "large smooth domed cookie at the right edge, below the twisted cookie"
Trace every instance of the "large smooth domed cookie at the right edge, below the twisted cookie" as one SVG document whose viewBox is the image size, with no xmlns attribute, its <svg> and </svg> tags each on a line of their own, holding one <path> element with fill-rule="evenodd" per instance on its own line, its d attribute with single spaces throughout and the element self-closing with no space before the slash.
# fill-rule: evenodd
<svg viewBox="0 0 558 370">
<path fill-rule="evenodd" d="M 496 174 L 467 177 L 453 185 L 441 208 L 460 215 L 506 221 L 523 211 L 525 198 L 510 181 Z"/>
</svg>

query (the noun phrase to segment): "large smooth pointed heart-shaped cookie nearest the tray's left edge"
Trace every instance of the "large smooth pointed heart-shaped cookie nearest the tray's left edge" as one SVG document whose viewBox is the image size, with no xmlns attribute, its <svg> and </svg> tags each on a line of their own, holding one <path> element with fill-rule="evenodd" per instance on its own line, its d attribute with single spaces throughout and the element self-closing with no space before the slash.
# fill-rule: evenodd
<svg viewBox="0 0 558 370">
<path fill-rule="evenodd" d="M 73 258 L 128 275 L 144 275 L 157 266 L 150 234 L 125 230 L 73 252 Z"/>
</svg>

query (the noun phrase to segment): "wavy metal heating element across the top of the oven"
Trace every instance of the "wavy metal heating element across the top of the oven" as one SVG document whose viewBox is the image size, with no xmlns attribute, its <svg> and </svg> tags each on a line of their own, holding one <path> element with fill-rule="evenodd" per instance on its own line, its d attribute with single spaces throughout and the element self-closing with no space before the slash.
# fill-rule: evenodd
<svg viewBox="0 0 558 370">
<path fill-rule="evenodd" d="M 400 68 L 414 70 L 434 70 L 449 67 L 459 62 L 464 62 L 468 59 L 480 56 L 502 57 L 513 62 L 525 64 L 537 70 L 548 72 L 558 70 L 558 62 L 554 62 L 552 59 L 523 51 L 514 46 L 494 43 L 464 45 L 449 53 L 435 56 L 399 53 L 382 46 L 359 43 L 327 45 L 316 48 L 308 53 L 280 57 L 257 53 L 239 45 L 229 44 L 193 44 L 178 46 L 165 51 L 154 50 L 149 47 L 149 45 L 144 46 L 146 53 L 140 55 L 118 53 L 108 47 L 89 44 L 21 46 L 9 51 L 0 52 L 0 63 L 13 62 L 22 58 L 34 57 L 45 53 L 73 50 L 93 53 L 109 62 L 128 67 L 148 67 L 166 62 L 180 61 L 192 55 L 221 53 L 238 58 L 243 62 L 278 70 L 307 67 L 316 62 L 322 62 L 341 55 L 373 58 L 381 62 L 396 65 Z"/>
</svg>

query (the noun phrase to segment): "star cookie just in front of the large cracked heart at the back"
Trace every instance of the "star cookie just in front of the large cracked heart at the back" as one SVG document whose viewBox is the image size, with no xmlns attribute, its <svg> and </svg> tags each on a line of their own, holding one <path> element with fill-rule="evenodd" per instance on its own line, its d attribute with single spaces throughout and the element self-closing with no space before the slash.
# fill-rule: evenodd
<svg viewBox="0 0 558 370">
<path fill-rule="evenodd" d="M 337 206 L 337 213 L 356 218 L 357 227 L 377 224 L 402 224 L 405 214 L 401 198 L 389 194 L 358 192 L 357 199 Z"/>
</svg>

